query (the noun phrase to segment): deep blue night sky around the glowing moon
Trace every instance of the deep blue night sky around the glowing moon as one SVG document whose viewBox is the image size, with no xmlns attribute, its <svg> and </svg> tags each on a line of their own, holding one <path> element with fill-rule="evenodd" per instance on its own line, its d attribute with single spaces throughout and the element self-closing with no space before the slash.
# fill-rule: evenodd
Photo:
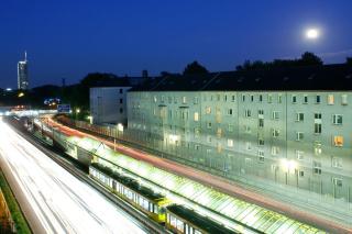
<svg viewBox="0 0 352 234">
<path fill-rule="evenodd" d="M 244 59 L 352 56 L 351 0 L 8 0 L 0 5 L 0 87 L 16 86 L 28 51 L 31 87 L 79 81 L 94 71 L 211 71 Z M 308 41 L 307 27 L 321 36 Z"/>
</svg>

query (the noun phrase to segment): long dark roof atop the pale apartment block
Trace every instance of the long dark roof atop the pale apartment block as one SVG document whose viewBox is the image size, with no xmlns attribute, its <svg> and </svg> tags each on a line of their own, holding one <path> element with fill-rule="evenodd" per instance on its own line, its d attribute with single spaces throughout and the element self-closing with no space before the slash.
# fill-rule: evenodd
<svg viewBox="0 0 352 234">
<path fill-rule="evenodd" d="M 345 64 L 168 75 L 147 79 L 130 91 L 352 90 L 352 66 Z"/>
</svg>

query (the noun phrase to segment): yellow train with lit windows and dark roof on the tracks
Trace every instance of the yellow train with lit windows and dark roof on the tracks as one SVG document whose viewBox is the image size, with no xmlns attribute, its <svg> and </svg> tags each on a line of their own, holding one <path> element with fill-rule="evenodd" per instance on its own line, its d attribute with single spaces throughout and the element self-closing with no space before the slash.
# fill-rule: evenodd
<svg viewBox="0 0 352 234">
<path fill-rule="evenodd" d="M 237 233 L 191 209 L 174 203 L 165 196 L 142 186 L 138 180 L 98 163 L 89 166 L 89 176 L 172 233 Z"/>
</svg>

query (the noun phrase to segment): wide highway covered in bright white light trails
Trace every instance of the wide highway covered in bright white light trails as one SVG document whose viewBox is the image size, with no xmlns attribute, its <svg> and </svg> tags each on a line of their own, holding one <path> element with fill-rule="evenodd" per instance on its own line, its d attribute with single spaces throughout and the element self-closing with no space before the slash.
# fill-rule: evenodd
<svg viewBox="0 0 352 234">
<path fill-rule="evenodd" d="M 0 163 L 34 233 L 145 233 L 0 120 Z"/>
</svg>

